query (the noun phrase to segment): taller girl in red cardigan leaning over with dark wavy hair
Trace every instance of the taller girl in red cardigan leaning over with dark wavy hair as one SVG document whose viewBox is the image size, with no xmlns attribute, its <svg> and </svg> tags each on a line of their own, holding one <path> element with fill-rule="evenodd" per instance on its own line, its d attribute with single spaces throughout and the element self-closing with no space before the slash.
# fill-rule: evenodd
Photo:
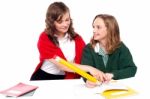
<svg viewBox="0 0 150 99">
<path fill-rule="evenodd" d="M 69 8 L 62 2 L 52 3 L 48 7 L 45 23 L 46 29 L 40 34 L 37 44 L 40 63 L 30 80 L 79 78 L 79 75 L 53 59 L 57 55 L 76 64 L 81 62 L 85 43 L 72 27 Z M 77 66 L 93 75 L 101 73 L 91 66 Z"/>
</svg>

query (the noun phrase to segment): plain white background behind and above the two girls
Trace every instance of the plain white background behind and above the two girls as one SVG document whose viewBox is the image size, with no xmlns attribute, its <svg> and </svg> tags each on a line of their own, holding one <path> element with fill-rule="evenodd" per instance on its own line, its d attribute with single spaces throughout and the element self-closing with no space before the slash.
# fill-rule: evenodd
<svg viewBox="0 0 150 99">
<path fill-rule="evenodd" d="M 55 0 L 0 0 L 0 83 L 29 80 L 39 62 L 37 41 L 45 14 Z M 148 0 L 62 0 L 71 11 L 75 31 L 86 43 L 100 13 L 116 17 L 122 41 L 138 67 L 139 82 L 149 79 L 150 14 Z M 139 83 L 138 82 L 138 83 Z"/>
</svg>

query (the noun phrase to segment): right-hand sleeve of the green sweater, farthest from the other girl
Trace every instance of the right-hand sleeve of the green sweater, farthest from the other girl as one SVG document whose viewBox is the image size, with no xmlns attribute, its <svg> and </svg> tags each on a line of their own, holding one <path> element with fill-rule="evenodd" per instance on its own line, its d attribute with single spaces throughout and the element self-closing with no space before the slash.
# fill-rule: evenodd
<svg viewBox="0 0 150 99">
<path fill-rule="evenodd" d="M 126 46 L 123 46 L 120 51 L 118 70 L 114 70 L 113 79 L 123 79 L 135 76 L 137 67 L 133 62 L 132 55 Z"/>
</svg>

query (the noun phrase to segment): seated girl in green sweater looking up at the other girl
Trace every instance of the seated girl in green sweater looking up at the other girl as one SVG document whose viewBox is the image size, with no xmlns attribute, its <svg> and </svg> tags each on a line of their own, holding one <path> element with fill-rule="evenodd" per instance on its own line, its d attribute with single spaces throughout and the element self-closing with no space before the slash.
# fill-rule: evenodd
<svg viewBox="0 0 150 99">
<path fill-rule="evenodd" d="M 82 64 L 102 72 L 100 81 L 124 79 L 135 76 L 137 67 L 127 46 L 120 40 L 117 20 L 112 15 L 100 14 L 93 20 L 93 37 L 83 51 Z M 96 86 L 86 81 L 87 87 Z"/>
</svg>

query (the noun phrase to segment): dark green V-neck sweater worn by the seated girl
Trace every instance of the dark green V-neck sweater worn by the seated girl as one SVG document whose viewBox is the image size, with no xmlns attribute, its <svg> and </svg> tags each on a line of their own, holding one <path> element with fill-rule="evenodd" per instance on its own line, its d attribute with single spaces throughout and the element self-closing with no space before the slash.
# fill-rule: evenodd
<svg viewBox="0 0 150 99">
<path fill-rule="evenodd" d="M 106 66 L 102 56 L 96 53 L 90 44 L 87 44 L 83 50 L 81 64 L 93 66 L 104 73 L 113 73 L 115 80 L 133 77 L 137 71 L 132 55 L 123 42 L 119 48 L 108 55 Z"/>
</svg>

